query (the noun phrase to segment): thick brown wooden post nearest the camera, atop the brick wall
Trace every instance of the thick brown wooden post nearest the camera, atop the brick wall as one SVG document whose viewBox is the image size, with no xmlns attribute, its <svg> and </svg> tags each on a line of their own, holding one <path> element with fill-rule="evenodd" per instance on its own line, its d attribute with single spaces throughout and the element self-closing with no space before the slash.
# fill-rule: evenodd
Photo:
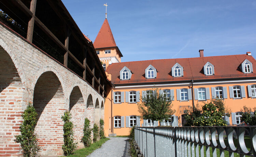
<svg viewBox="0 0 256 157">
<path fill-rule="evenodd" d="M 33 39 L 33 30 L 34 30 L 34 21 L 35 21 L 35 7 L 37 5 L 37 0 L 31 0 L 30 2 L 30 11 L 33 13 L 31 19 L 28 21 L 28 32 L 27 40 L 32 42 Z"/>
</svg>

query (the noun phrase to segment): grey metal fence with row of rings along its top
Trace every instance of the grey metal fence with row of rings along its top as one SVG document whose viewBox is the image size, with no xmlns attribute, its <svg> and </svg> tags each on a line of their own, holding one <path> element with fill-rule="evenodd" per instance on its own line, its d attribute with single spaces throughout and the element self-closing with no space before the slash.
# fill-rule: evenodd
<svg viewBox="0 0 256 157">
<path fill-rule="evenodd" d="M 256 156 L 256 126 L 135 127 L 134 134 L 144 157 Z"/>
</svg>

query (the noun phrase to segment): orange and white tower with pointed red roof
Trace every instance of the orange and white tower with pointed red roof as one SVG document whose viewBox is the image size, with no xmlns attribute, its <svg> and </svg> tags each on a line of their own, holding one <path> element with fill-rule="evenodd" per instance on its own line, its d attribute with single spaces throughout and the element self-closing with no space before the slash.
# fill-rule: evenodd
<svg viewBox="0 0 256 157">
<path fill-rule="evenodd" d="M 112 63 L 121 62 L 123 55 L 116 46 L 108 19 L 105 18 L 93 45 L 102 62 L 104 70 Z"/>
</svg>

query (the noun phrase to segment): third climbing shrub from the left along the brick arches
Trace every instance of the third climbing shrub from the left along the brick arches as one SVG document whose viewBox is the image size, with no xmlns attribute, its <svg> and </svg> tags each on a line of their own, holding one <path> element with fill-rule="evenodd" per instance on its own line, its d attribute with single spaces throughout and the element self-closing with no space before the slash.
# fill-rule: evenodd
<svg viewBox="0 0 256 157">
<path fill-rule="evenodd" d="M 84 119 L 84 136 L 81 141 L 84 143 L 85 147 L 91 145 L 91 128 L 90 128 L 90 120 L 88 118 Z"/>
</svg>

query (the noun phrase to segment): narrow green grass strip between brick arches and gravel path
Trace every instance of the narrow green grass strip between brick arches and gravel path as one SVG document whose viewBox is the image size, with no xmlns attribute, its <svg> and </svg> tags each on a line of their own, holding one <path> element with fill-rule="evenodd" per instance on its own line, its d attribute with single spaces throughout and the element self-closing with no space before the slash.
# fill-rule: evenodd
<svg viewBox="0 0 256 157">
<path fill-rule="evenodd" d="M 109 138 L 100 139 L 99 141 L 96 141 L 96 142 L 92 143 L 89 147 L 82 148 L 82 149 L 74 151 L 71 155 L 69 155 L 67 157 L 85 157 L 85 156 L 88 156 L 89 154 L 93 153 L 93 151 L 98 149 L 103 143 L 105 143 L 108 140 L 109 140 Z"/>
</svg>

